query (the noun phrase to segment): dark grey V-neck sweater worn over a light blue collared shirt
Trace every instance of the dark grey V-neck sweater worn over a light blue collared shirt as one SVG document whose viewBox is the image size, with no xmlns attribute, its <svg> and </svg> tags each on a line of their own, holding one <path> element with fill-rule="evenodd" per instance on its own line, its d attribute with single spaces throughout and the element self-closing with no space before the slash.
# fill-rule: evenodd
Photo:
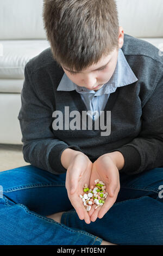
<svg viewBox="0 0 163 256">
<path fill-rule="evenodd" d="M 30 59 L 24 69 L 18 115 L 26 162 L 61 174 L 66 172 L 61 153 L 72 148 L 92 162 L 102 154 L 120 151 L 125 160 L 120 172 L 129 175 L 163 165 L 163 57 L 152 44 L 127 34 L 122 51 L 138 81 L 110 94 L 104 109 L 111 111 L 108 136 L 101 136 L 100 128 L 54 130 L 54 111 L 64 116 L 69 106 L 70 112 L 78 110 L 82 116 L 86 106 L 76 91 L 57 91 L 64 70 L 55 62 L 51 48 Z"/>
</svg>

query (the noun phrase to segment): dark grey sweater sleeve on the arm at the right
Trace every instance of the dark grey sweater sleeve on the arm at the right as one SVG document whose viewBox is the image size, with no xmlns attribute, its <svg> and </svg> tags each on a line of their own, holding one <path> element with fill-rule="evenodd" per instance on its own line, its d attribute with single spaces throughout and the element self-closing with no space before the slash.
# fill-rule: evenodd
<svg viewBox="0 0 163 256">
<path fill-rule="evenodd" d="M 142 129 L 129 144 L 117 148 L 124 157 L 120 172 L 138 174 L 163 166 L 163 76 L 142 107 Z"/>
</svg>

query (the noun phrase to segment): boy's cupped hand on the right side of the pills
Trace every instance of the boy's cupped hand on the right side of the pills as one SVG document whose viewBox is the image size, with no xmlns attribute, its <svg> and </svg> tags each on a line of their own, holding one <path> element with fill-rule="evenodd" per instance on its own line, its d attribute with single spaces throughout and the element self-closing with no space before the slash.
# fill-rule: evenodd
<svg viewBox="0 0 163 256">
<path fill-rule="evenodd" d="M 97 178 L 105 183 L 105 191 L 108 192 L 108 197 L 106 197 L 105 203 L 96 210 L 96 204 L 92 206 L 89 216 L 93 222 L 96 221 L 97 217 L 102 218 L 108 212 L 111 206 L 114 205 L 120 191 L 119 171 L 109 154 L 104 154 L 93 163 L 89 187 L 95 186 Z"/>
</svg>

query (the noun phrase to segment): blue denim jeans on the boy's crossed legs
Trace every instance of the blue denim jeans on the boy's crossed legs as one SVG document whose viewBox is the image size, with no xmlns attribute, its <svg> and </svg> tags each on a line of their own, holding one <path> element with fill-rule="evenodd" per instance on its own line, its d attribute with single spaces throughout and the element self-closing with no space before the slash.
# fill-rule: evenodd
<svg viewBox="0 0 163 256">
<path fill-rule="evenodd" d="M 116 203 L 90 224 L 71 205 L 65 178 L 33 165 L 0 172 L 0 245 L 163 245 L 163 168 L 120 174 Z M 61 223 L 46 217 L 61 211 Z"/>
</svg>

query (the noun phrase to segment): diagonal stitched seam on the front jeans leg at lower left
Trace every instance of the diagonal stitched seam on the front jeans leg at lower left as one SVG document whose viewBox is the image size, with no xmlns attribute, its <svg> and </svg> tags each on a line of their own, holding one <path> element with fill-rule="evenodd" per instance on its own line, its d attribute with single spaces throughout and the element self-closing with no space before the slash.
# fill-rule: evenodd
<svg viewBox="0 0 163 256">
<path fill-rule="evenodd" d="M 27 213 L 29 213 L 30 215 L 33 215 L 33 216 L 35 216 L 35 217 L 37 217 L 37 218 L 40 218 L 40 219 L 43 219 L 43 220 L 46 221 L 46 222 L 51 222 L 51 223 L 53 223 L 53 224 L 55 223 L 55 224 L 61 226 L 62 228 L 67 229 L 68 231 L 71 231 L 71 232 L 73 232 L 73 233 L 82 233 L 82 234 L 84 234 L 84 235 L 86 235 L 86 236 L 92 237 L 93 239 L 94 239 L 94 237 L 95 237 L 95 236 L 93 236 L 93 235 L 91 235 L 91 234 L 89 234 L 89 233 L 86 233 L 86 232 L 84 232 L 84 231 L 71 230 L 71 229 L 69 229 L 67 226 L 65 227 L 65 225 L 62 225 L 61 223 L 55 222 L 55 221 L 52 220 L 52 219 L 48 219 L 48 218 L 43 217 L 43 216 L 41 216 L 41 215 L 37 215 L 36 213 L 30 212 L 30 211 L 28 211 L 27 207 L 24 206 L 24 205 L 22 205 L 22 204 L 17 204 L 17 205 L 20 205 L 20 206 L 21 206 Z M 96 240 L 98 240 L 97 237 L 96 237 Z M 96 240 L 95 240 L 95 241 L 96 241 Z M 98 241 L 101 242 L 101 240 L 102 240 L 102 239 L 99 238 Z M 95 242 L 95 241 L 94 241 L 94 242 Z"/>
</svg>

